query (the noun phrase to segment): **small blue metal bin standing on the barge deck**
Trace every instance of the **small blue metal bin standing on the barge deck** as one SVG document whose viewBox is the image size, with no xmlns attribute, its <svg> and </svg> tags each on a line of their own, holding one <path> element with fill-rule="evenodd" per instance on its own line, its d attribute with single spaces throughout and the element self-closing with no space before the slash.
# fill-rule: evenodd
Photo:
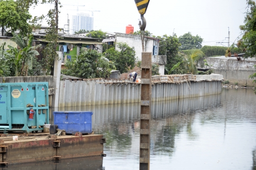
<svg viewBox="0 0 256 170">
<path fill-rule="evenodd" d="M 91 115 L 92 112 L 68 111 L 53 112 L 54 124 L 58 125 L 58 129 L 65 130 L 66 134 L 82 134 L 92 133 Z"/>
</svg>

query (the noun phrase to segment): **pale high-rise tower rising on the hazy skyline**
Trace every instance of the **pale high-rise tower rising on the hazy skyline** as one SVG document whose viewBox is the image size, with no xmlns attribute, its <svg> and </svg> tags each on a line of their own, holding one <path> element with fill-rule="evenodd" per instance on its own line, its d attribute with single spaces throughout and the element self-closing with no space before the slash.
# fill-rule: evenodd
<svg viewBox="0 0 256 170">
<path fill-rule="evenodd" d="M 89 14 L 80 13 L 77 15 L 72 16 L 72 34 L 74 32 L 78 32 L 81 29 L 85 29 L 86 31 L 93 30 L 93 17 L 91 17 Z"/>
</svg>

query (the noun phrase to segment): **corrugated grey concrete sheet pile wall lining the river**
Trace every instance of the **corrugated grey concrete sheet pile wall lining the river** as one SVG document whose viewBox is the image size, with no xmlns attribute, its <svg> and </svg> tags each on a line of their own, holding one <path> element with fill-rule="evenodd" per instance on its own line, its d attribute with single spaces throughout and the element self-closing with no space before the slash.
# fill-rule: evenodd
<svg viewBox="0 0 256 170">
<path fill-rule="evenodd" d="M 140 102 L 140 84 L 103 84 L 104 82 L 115 81 L 103 79 L 61 81 L 59 107 Z M 200 97 L 220 93 L 220 81 L 185 82 L 179 84 L 162 83 L 152 85 L 152 101 Z"/>
</svg>

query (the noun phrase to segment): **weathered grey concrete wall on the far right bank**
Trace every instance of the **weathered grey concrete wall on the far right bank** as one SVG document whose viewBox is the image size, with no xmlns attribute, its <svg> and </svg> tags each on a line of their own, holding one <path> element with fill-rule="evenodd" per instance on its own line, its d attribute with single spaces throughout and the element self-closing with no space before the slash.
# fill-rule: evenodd
<svg viewBox="0 0 256 170">
<path fill-rule="evenodd" d="M 253 65 L 256 65 L 255 58 L 238 61 L 235 57 L 221 56 L 208 57 L 206 60 L 210 67 L 205 66 L 205 68 L 214 69 L 214 73 L 223 75 L 225 80 L 231 83 L 238 82 L 238 85 L 254 86 L 253 79 L 249 79 L 249 75 L 256 72 L 253 68 Z"/>
</svg>

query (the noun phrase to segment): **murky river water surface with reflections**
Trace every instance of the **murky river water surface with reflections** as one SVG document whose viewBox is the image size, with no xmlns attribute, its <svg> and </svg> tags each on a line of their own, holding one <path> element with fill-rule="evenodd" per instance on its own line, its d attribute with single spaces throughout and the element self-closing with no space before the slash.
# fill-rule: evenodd
<svg viewBox="0 0 256 170">
<path fill-rule="evenodd" d="M 139 109 L 139 104 L 61 108 L 93 111 L 93 131 L 106 137 L 107 156 L 8 169 L 138 170 Z M 220 95 L 152 102 L 151 116 L 151 170 L 256 170 L 253 89 L 222 89 Z"/>
</svg>

